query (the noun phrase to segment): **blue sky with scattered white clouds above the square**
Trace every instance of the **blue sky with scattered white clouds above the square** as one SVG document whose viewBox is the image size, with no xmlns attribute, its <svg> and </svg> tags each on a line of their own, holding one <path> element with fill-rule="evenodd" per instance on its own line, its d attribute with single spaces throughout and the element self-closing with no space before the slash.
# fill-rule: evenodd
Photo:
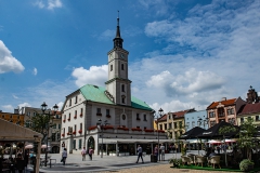
<svg viewBox="0 0 260 173">
<path fill-rule="evenodd" d="M 154 110 L 260 95 L 258 0 L 0 0 L 0 110 L 105 86 L 119 11 L 131 94 Z"/>
</svg>

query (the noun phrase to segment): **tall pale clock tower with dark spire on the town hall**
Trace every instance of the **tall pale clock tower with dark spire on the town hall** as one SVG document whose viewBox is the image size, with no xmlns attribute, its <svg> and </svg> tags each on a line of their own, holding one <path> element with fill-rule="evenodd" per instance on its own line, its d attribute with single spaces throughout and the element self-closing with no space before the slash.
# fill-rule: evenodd
<svg viewBox="0 0 260 173">
<path fill-rule="evenodd" d="M 117 17 L 114 48 L 108 55 L 108 80 L 105 82 L 107 97 L 117 105 L 131 106 L 131 81 L 128 79 L 128 54 L 122 48 L 119 16 Z"/>
</svg>

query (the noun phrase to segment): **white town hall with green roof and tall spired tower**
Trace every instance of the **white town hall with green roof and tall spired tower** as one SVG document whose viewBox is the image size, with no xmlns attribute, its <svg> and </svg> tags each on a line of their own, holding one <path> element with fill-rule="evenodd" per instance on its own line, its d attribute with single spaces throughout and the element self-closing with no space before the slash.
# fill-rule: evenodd
<svg viewBox="0 0 260 173">
<path fill-rule="evenodd" d="M 131 95 L 119 17 L 113 42 L 106 86 L 86 84 L 67 95 L 62 107 L 61 148 L 69 154 L 91 147 L 95 155 L 135 155 L 139 144 L 148 154 L 158 139 L 167 141 L 165 131 L 154 130 L 154 110 Z"/>
</svg>

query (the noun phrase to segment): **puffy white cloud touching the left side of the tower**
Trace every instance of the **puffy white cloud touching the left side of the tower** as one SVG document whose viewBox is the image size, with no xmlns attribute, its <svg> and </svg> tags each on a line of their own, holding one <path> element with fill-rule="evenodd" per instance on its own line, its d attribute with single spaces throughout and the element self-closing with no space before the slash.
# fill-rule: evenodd
<svg viewBox="0 0 260 173">
<path fill-rule="evenodd" d="M 79 88 L 84 84 L 104 85 L 108 77 L 107 68 L 107 65 L 91 66 L 89 70 L 79 67 L 74 69 L 72 76 L 76 78 L 76 84 Z"/>
</svg>

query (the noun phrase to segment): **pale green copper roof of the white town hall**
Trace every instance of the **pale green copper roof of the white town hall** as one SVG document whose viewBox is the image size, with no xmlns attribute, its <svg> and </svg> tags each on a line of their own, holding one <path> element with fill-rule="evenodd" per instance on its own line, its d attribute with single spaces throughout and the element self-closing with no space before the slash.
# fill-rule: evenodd
<svg viewBox="0 0 260 173">
<path fill-rule="evenodd" d="M 105 95 L 105 88 L 86 84 L 79 90 L 84 96 L 84 98 L 88 101 L 114 105 L 114 103 Z M 131 105 L 133 108 L 136 109 L 153 110 L 145 102 L 140 101 L 134 96 L 131 96 Z"/>
</svg>

